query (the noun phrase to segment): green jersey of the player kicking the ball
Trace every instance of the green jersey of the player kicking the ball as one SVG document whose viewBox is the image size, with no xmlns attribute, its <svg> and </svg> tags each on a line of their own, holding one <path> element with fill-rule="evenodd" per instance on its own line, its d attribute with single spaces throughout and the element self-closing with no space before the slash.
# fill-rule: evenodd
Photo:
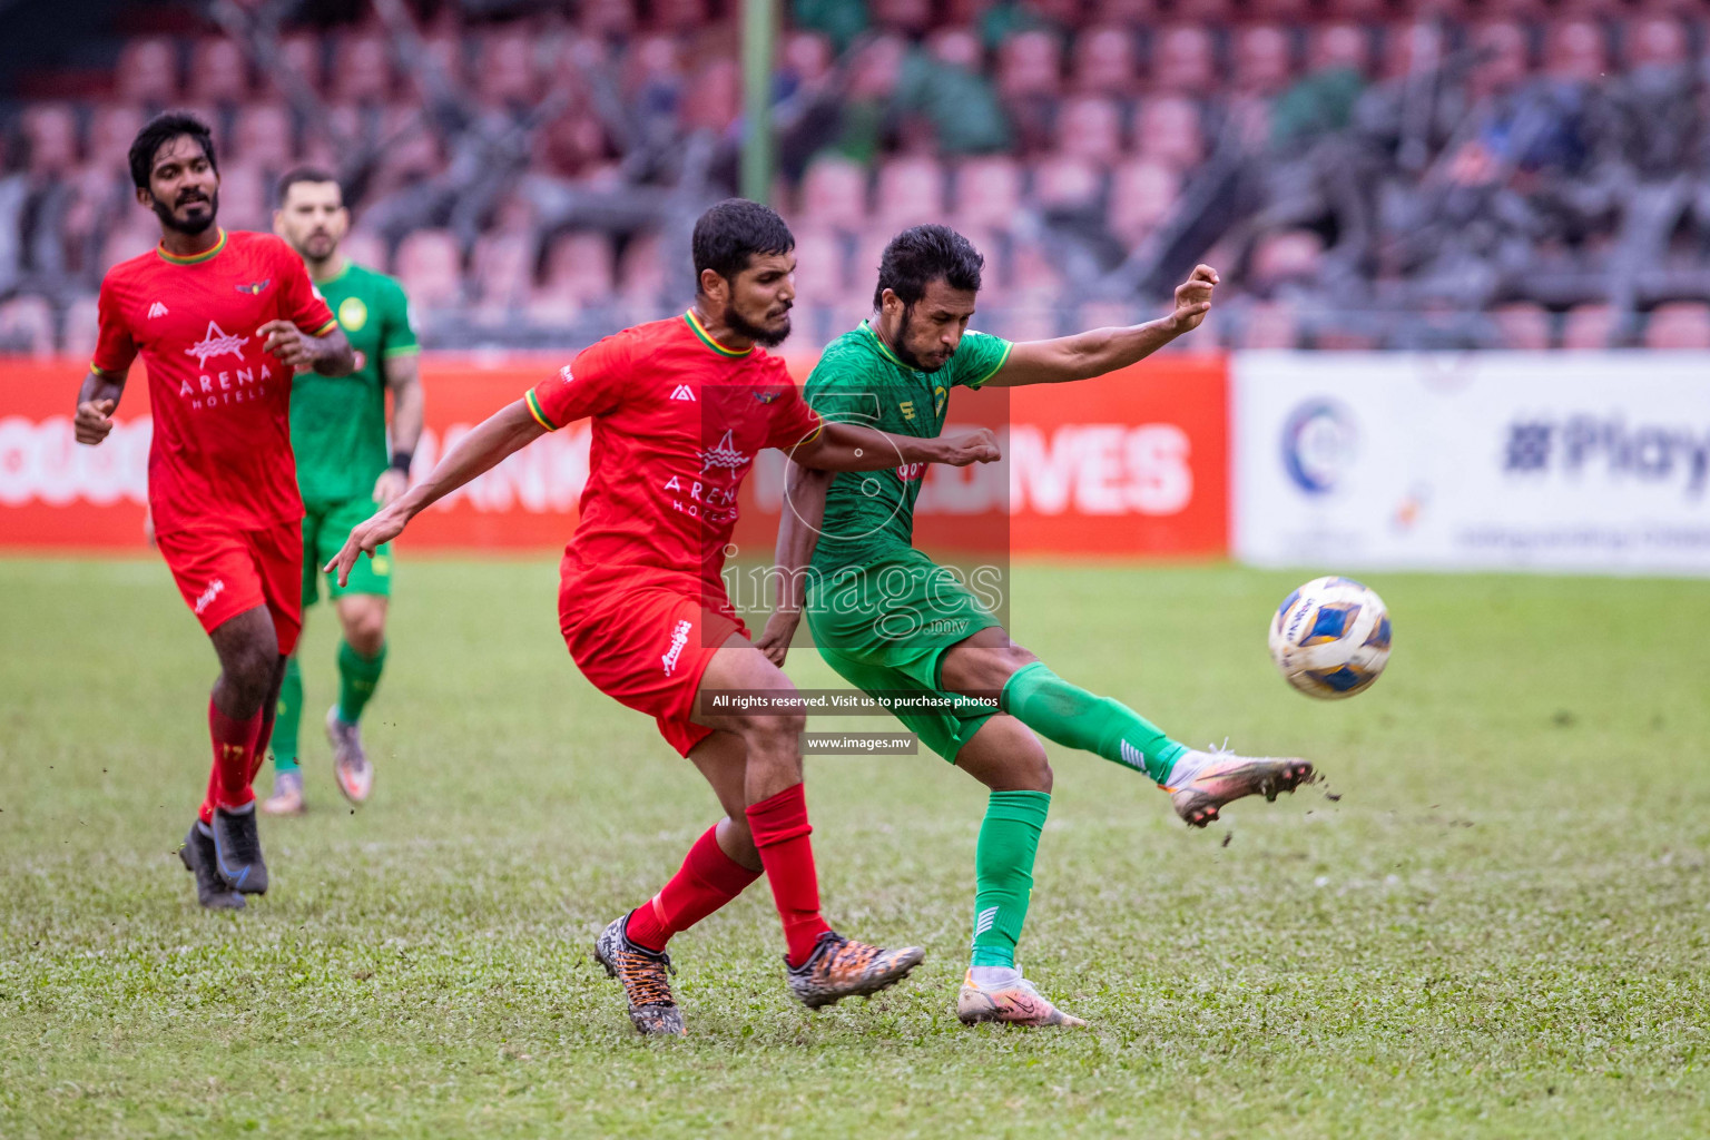
<svg viewBox="0 0 1710 1140">
<path fill-rule="evenodd" d="M 944 367 L 922 373 L 898 361 L 862 321 L 826 347 L 802 395 L 826 419 L 932 439 L 944 431 L 951 388 L 978 388 L 992 379 L 1009 359 L 1009 349 L 1000 337 L 968 332 Z M 845 566 L 910 549 L 925 473 L 925 463 L 838 473 L 826 494 L 814 569 L 829 576 Z"/>
</svg>

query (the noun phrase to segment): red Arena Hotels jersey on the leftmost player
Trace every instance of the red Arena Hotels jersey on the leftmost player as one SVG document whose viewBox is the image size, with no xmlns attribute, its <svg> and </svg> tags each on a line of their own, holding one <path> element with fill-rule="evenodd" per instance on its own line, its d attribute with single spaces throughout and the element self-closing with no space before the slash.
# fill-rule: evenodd
<svg viewBox="0 0 1710 1140">
<path fill-rule="evenodd" d="M 337 321 L 303 258 L 272 234 L 221 232 L 192 258 L 156 248 L 101 280 L 91 367 L 120 376 L 142 354 L 154 441 L 149 509 L 159 533 L 217 521 L 262 530 L 303 518 L 291 458 L 291 369 L 256 328 L 287 320 L 320 335 Z"/>
</svg>

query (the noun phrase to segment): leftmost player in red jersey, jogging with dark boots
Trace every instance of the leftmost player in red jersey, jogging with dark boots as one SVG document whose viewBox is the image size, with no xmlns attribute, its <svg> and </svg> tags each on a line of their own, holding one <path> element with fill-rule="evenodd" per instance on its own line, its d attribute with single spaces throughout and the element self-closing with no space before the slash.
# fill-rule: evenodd
<svg viewBox="0 0 1710 1140">
<path fill-rule="evenodd" d="M 130 176 L 137 202 L 161 219 L 161 244 L 101 282 L 101 337 L 75 431 L 79 443 L 106 439 L 140 356 L 156 542 L 221 665 L 209 699 L 214 771 L 180 858 L 202 906 L 236 909 L 267 890 L 250 783 L 303 629 L 291 374 L 342 376 L 356 361 L 291 246 L 215 226 L 219 164 L 202 121 L 147 123 L 130 145 Z"/>
</svg>

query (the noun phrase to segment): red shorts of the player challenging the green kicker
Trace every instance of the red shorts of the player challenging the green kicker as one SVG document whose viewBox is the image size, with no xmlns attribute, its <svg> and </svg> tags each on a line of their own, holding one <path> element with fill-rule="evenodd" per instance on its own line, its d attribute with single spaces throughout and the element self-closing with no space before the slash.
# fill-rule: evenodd
<svg viewBox="0 0 1710 1140">
<path fill-rule="evenodd" d="M 730 600 L 705 596 L 696 581 L 564 579 L 557 620 L 583 677 L 657 720 L 682 755 L 713 732 L 689 720 L 706 665 L 730 634 L 749 636 Z"/>
</svg>

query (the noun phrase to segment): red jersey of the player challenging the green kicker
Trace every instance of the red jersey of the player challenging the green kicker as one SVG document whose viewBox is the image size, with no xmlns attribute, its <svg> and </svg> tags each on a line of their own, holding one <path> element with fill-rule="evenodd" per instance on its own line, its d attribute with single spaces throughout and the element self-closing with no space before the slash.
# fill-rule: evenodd
<svg viewBox="0 0 1710 1140">
<path fill-rule="evenodd" d="M 590 345 L 527 400 L 547 431 L 593 417 L 564 574 L 662 571 L 699 578 L 718 596 L 754 455 L 821 426 L 781 359 L 723 347 L 694 313 Z"/>
</svg>

